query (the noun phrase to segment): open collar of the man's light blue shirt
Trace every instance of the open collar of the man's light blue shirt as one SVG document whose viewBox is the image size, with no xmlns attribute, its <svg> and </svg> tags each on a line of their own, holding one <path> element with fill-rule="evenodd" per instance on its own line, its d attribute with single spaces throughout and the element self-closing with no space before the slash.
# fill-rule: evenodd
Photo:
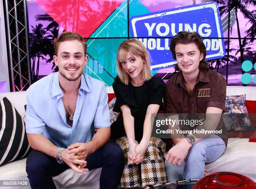
<svg viewBox="0 0 256 189">
<path fill-rule="evenodd" d="M 86 91 L 86 92 L 91 92 L 91 83 L 89 79 L 86 79 L 87 75 L 86 74 L 82 74 L 81 76 L 81 86 L 79 88 L 80 89 Z M 51 89 L 51 97 L 55 97 L 57 95 L 62 95 L 63 96 L 63 92 L 59 86 L 59 72 L 57 72 L 54 77 L 53 77 L 53 82 L 52 82 L 52 89 Z"/>
</svg>

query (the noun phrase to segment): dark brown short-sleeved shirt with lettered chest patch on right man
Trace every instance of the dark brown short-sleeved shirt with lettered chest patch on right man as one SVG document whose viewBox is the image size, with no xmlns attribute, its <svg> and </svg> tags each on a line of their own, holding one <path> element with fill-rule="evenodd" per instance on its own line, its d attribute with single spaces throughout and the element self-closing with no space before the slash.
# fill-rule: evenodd
<svg viewBox="0 0 256 189">
<path fill-rule="evenodd" d="M 164 111 L 165 113 L 206 113 L 207 107 L 218 107 L 225 111 L 226 87 L 226 81 L 221 74 L 202 69 L 193 91 L 189 93 L 180 71 L 166 82 Z M 221 117 L 216 130 L 223 129 L 225 136 L 223 134 L 219 136 L 227 145 L 227 132 L 223 125 Z"/>
</svg>

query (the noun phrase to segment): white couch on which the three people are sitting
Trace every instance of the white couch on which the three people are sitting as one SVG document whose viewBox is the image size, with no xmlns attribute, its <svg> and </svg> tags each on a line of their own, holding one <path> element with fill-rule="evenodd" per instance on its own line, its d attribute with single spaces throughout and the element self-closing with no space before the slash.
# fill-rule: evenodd
<svg viewBox="0 0 256 189">
<path fill-rule="evenodd" d="M 113 93 L 112 87 L 107 87 L 107 91 L 108 93 Z M 227 87 L 227 95 L 241 94 L 246 94 L 246 100 L 256 100 L 256 87 Z M 13 103 L 22 117 L 25 116 L 26 92 L 0 94 L 0 99 L 3 97 L 7 97 Z M 206 168 L 208 169 L 207 174 L 218 171 L 231 171 L 243 174 L 256 181 L 256 143 L 249 143 L 248 138 L 229 138 L 225 153 L 218 160 L 207 164 Z M 26 159 L 0 166 L 0 182 L 1 180 L 28 180 L 25 169 Z M 100 186 L 100 172 L 101 169 L 94 169 L 87 173 L 79 174 L 72 169 L 68 169 L 53 179 L 57 188 L 98 189 Z M 8 188 L 11 187 L 5 187 L 5 189 Z M 28 189 L 30 187 L 22 188 Z"/>
</svg>

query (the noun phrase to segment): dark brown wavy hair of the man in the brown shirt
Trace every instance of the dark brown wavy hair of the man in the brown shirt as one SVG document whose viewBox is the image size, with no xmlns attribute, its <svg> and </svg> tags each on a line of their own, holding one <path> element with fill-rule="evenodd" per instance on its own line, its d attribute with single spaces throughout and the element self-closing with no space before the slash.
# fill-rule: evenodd
<svg viewBox="0 0 256 189">
<path fill-rule="evenodd" d="M 205 60 L 206 57 L 206 47 L 202 41 L 200 35 L 196 32 L 188 33 L 187 31 L 180 31 L 177 33 L 171 41 L 170 44 L 170 51 L 172 52 L 172 57 L 176 60 L 176 53 L 175 53 L 175 46 L 177 44 L 188 44 L 188 43 L 195 43 L 200 50 L 201 53 L 204 54 L 203 59 L 200 61 L 199 69 L 209 69 L 208 62 Z M 178 64 L 175 66 L 175 70 L 179 71 Z"/>
</svg>

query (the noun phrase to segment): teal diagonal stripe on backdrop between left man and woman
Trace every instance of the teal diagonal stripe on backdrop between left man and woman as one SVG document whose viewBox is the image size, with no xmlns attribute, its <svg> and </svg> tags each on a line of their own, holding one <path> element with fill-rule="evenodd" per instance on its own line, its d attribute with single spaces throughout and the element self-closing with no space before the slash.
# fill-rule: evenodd
<svg viewBox="0 0 256 189">
<path fill-rule="evenodd" d="M 128 37 L 127 8 L 127 1 L 121 3 L 90 37 Z M 140 1 L 130 0 L 129 18 L 146 13 L 150 13 L 150 11 Z M 126 38 L 88 39 L 86 41 L 88 45 L 87 52 L 91 57 L 89 57 L 84 73 L 102 80 L 106 86 L 112 86 L 113 77 L 115 78 L 117 75 L 116 53 L 120 43 L 125 40 Z M 152 74 L 154 75 L 157 72 L 156 70 Z"/>
</svg>

